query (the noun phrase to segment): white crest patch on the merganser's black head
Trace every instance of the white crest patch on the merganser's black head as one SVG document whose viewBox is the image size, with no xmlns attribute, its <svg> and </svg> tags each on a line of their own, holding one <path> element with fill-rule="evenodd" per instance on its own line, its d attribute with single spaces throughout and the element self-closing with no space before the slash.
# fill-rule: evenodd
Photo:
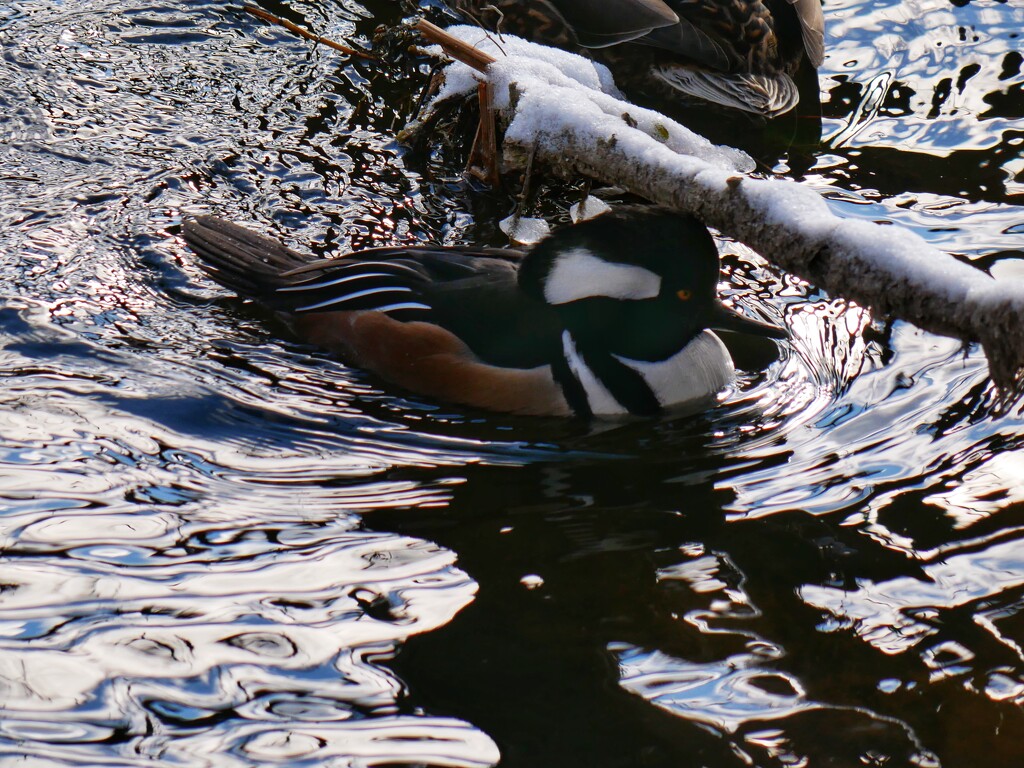
<svg viewBox="0 0 1024 768">
<path fill-rule="evenodd" d="M 557 259 L 544 283 L 549 304 L 606 296 L 637 301 L 653 299 L 662 291 L 662 278 L 636 264 L 618 264 L 575 248 Z"/>
</svg>

